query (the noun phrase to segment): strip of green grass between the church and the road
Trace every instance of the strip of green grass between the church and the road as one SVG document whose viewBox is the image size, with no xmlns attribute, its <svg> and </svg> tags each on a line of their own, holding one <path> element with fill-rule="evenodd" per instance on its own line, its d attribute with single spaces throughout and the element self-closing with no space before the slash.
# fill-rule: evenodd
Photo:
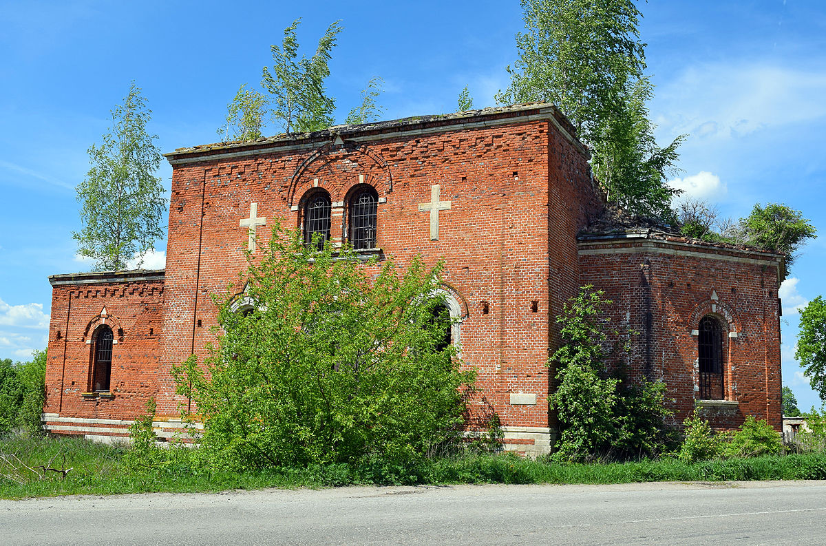
<svg viewBox="0 0 826 546">
<path fill-rule="evenodd" d="M 51 464 L 53 468 L 61 468 L 64 464 L 64 468 L 73 468 L 65 478 L 59 473 L 49 472 L 45 479 L 24 469 L 23 475 L 27 474 L 27 479 L 22 485 L 0 477 L 0 498 L 354 484 L 589 484 L 826 479 L 826 453 L 731 458 L 701 463 L 663 458 L 606 464 L 563 464 L 534 461 L 510 454 L 474 454 L 429 459 L 413 468 L 395 468 L 381 461 L 371 461 L 360 465 L 330 464 L 256 472 L 204 470 L 201 465 L 192 463 L 192 457 L 188 454 L 156 467 L 128 468 L 124 464 L 126 448 L 73 438 L 14 437 L 0 440 L 0 453 L 14 453 L 30 467 L 45 464 L 57 454 Z M 0 466 L 2 473 L 8 474 L 9 471 Z"/>
</svg>

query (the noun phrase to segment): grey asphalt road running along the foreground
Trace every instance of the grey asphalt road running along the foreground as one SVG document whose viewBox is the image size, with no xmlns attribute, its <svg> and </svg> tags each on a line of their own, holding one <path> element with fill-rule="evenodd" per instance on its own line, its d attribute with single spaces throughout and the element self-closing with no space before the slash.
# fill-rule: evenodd
<svg viewBox="0 0 826 546">
<path fill-rule="evenodd" d="M 0 544 L 826 544 L 826 482 L 343 487 L 0 501 Z"/>
</svg>

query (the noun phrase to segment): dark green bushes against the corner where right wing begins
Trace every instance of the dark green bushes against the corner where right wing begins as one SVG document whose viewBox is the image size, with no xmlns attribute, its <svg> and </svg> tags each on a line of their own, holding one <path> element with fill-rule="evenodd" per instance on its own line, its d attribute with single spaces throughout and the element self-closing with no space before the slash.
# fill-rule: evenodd
<svg viewBox="0 0 826 546">
<path fill-rule="evenodd" d="M 557 322 L 563 345 L 553 354 L 558 387 L 550 396 L 560 437 L 553 457 L 564 461 L 655 454 L 667 441 L 666 386 L 631 382 L 623 370 L 608 373 L 605 349 L 611 301 L 586 286 L 565 306 Z M 614 333 L 617 335 L 617 333 Z"/>
</svg>

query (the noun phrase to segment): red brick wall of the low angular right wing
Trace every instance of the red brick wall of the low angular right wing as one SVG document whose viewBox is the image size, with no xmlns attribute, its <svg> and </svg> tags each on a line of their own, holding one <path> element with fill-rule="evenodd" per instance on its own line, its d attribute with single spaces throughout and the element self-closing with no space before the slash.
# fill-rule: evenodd
<svg viewBox="0 0 826 546">
<path fill-rule="evenodd" d="M 738 405 L 705 414 L 723 429 L 737 427 L 746 415 L 781 429 L 776 255 L 644 239 L 583 241 L 580 249 L 583 284 L 614 301 L 615 326 L 638 332 L 630 372 L 667 383 L 676 420 L 700 398 L 692 330 L 714 315 L 724 325 L 724 397 Z M 725 337 L 733 332 L 737 337 Z"/>
</svg>

